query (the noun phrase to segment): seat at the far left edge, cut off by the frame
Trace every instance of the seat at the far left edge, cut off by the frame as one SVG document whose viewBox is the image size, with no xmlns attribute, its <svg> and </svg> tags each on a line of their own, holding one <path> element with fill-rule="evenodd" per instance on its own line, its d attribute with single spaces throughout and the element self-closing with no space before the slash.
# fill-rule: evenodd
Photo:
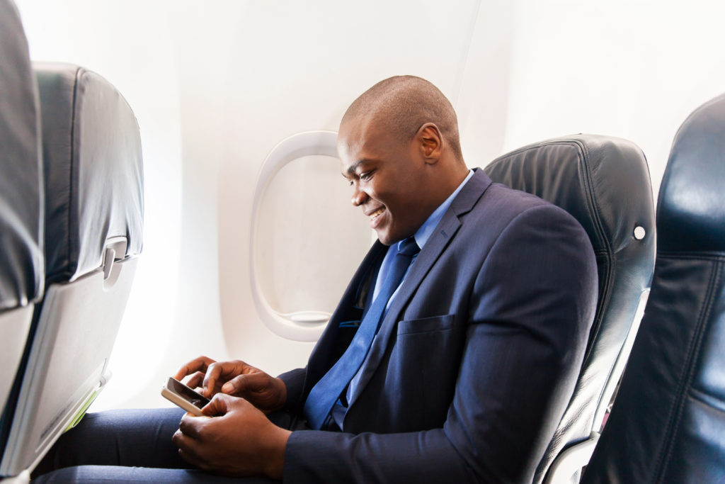
<svg viewBox="0 0 725 484">
<path fill-rule="evenodd" d="M 0 0 L 0 409 L 43 294 L 38 92 L 12 1 Z"/>
</svg>

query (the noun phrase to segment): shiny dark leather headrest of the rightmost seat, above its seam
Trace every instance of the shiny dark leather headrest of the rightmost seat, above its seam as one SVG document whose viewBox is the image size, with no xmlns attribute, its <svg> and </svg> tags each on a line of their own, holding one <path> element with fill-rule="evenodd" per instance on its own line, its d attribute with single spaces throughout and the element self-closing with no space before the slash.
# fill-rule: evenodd
<svg viewBox="0 0 725 484">
<path fill-rule="evenodd" d="M 725 94 L 675 135 L 657 202 L 658 251 L 725 250 Z"/>
</svg>

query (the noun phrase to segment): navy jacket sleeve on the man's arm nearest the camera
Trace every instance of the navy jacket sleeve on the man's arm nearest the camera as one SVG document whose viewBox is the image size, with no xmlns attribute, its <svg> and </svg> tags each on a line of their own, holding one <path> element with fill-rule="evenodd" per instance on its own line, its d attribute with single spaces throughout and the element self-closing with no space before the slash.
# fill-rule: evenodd
<svg viewBox="0 0 725 484">
<path fill-rule="evenodd" d="M 286 483 L 531 481 L 573 392 L 595 314 L 589 238 L 563 210 L 529 208 L 501 232 L 469 287 L 443 427 L 293 432 Z"/>
</svg>

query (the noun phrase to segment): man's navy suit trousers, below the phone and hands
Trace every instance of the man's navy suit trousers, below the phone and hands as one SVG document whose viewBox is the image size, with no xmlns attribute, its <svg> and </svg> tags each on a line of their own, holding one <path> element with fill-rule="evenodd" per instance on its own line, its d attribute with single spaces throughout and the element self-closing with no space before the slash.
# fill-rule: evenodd
<svg viewBox="0 0 725 484">
<path fill-rule="evenodd" d="M 182 409 L 112 410 L 88 414 L 66 432 L 33 471 L 33 483 L 232 483 L 188 464 L 178 456 L 171 436 L 178 430 Z M 270 420 L 289 430 L 304 422 L 289 412 Z M 248 484 L 275 483 L 260 477 Z"/>
</svg>

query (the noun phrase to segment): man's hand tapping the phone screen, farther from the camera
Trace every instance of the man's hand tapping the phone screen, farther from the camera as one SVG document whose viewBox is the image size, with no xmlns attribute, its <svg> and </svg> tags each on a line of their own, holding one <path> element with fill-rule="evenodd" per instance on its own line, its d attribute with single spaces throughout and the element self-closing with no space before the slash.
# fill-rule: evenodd
<svg viewBox="0 0 725 484">
<path fill-rule="evenodd" d="M 282 380 L 244 361 L 214 361 L 199 356 L 179 369 L 175 378 L 181 380 L 188 374 L 191 378 L 186 385 L 194 388 L 201 384 L 202 394 L 207 398 L 217 393 L 246 398 L 265 414 L 281 409 L 287 399 L 287 387 Z"/>
</svg>

